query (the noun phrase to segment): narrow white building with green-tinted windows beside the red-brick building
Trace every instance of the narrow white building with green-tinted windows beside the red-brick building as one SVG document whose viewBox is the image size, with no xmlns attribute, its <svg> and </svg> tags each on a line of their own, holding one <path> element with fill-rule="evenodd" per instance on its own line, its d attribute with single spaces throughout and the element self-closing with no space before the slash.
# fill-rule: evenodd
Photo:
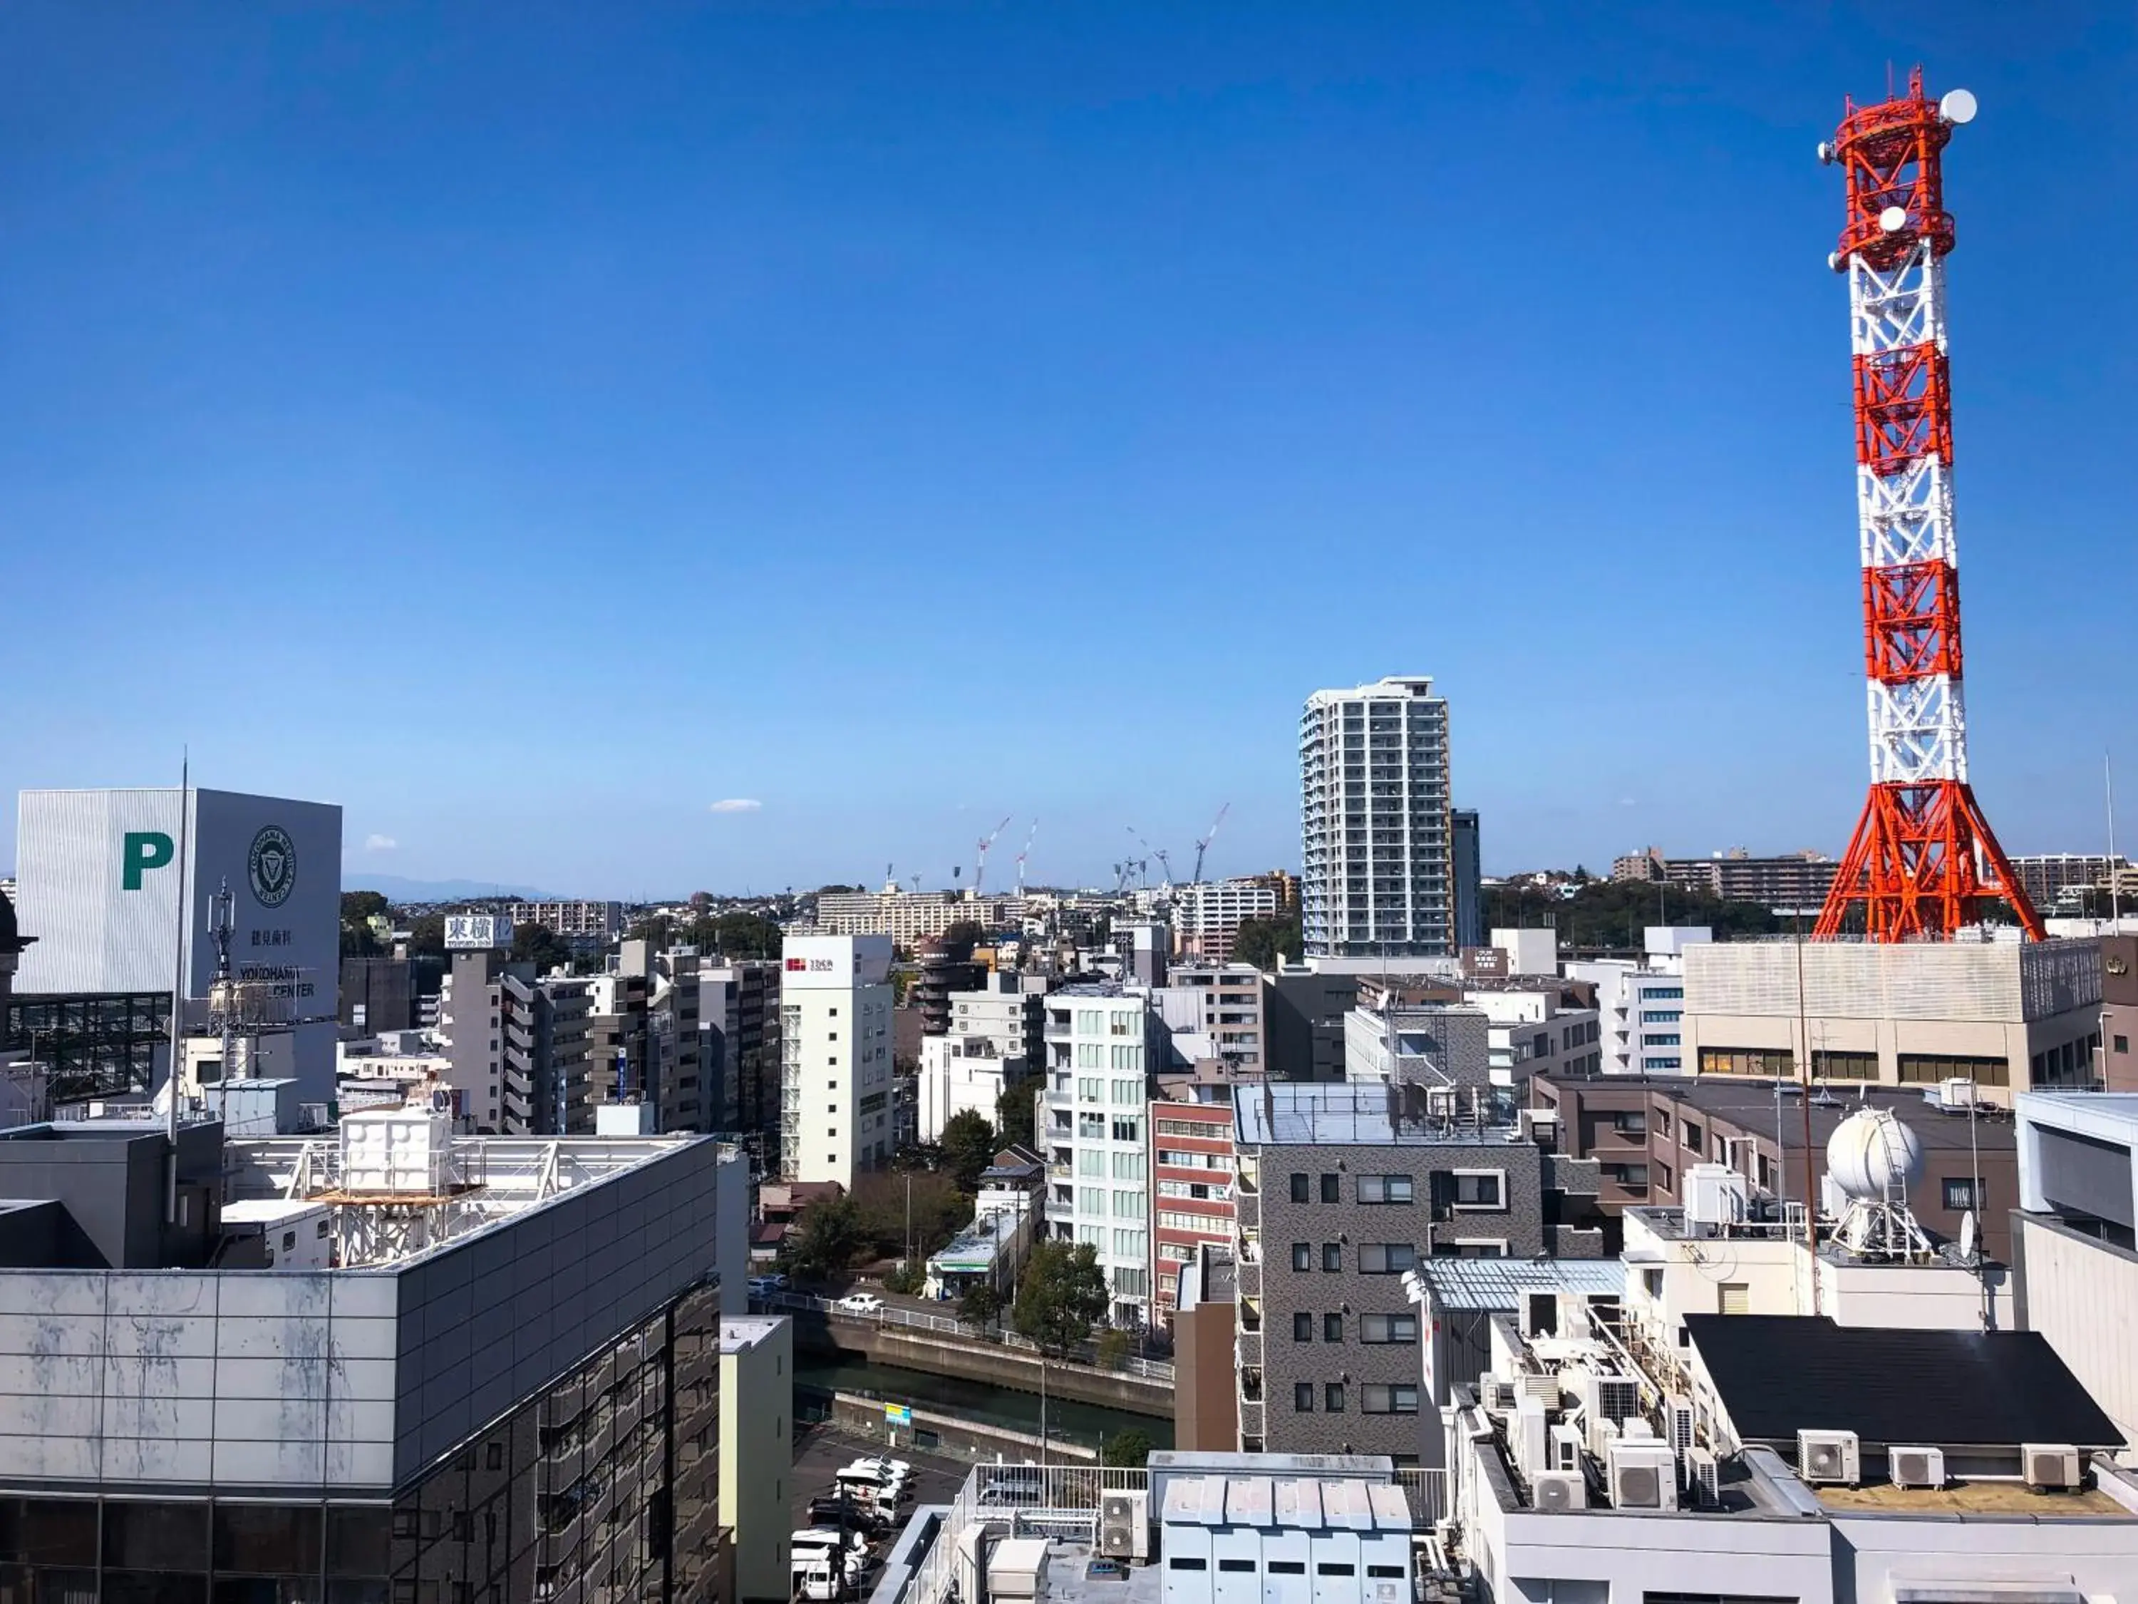
<svg viewBox="0 0 2138 1604">
<path fill-rule="evenodd" d="M 1150 1322 L 1150 1069 L 1165 1029 L 1148 999 L 1112 982 L 1065 986 L 1045 1001 L 1048 1093 L 1039 1140 L 1056 1200 L 1056 1240 L 1088 1243 L 1114 1294 L 1112 1322 Z"/>
</svg>

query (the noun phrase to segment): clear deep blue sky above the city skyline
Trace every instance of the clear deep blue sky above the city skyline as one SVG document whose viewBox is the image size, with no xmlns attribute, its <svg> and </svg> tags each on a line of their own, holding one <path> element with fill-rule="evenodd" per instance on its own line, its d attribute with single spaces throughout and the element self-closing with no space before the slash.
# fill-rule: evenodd
<svg viewBox="0 0 2138 1604">
<path fill-rule="evenodd" d="M 1424 672 L 1488 870 L 1839 851 L 1811 152 L 1914 60 L 1982 101 L 1978 791 L 2093 849 L 2138 746 L 2108 4 L 9 6 L 0 791 L 190 742 L 340 802 L 351 883 L 618 896 L 947 883 L 1003 815 L 996 875 L 1037 817 L 1033 879 L 1093 883 L 1229 800 L 1242 873 L 1298 860 L 1300 699 Z"/>
</svg>

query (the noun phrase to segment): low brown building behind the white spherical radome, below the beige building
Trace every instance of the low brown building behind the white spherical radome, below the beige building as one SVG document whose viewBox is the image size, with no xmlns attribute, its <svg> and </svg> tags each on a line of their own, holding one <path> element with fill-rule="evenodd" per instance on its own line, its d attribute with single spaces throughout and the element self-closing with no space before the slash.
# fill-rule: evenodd
<svg viewBox="0 0 2138 1604">
<path fill-rule="evenodd" d="M 1680 1206 L 1685 1170 L 1695 1163 L 1728 1163 L 1760 1191 L 1796 1202 L 1804 1198 L 1804 1104 L 1796 1082 L 1781 1082 L 1779 1121 L 1772 1080 L 1539 1076 L 1529 1093 L 1533 1110 L 1556 1116 L 1559 1151 L 1595 1159 L 1601 1168 L 1599 1202 L 1606 1213 L 1640 1204 Z M 1982 1251 L 2010 1262 L 2018 1144 L 2008 1110 L 1984 1104 L 1976 1114 L 1948 1112 L 1920 1091 L 1813 1086 L 1813 1196 L 1826 1176 L 1826 1140 L 1858 1108 L 1858 1095 L 1890 1108 L 1922 1140 L 1922 1178 L 1909 1196 L 1922 1228 L 1958 1238 L 1961 1217 L 1973 1210 Z"/>
</svg>

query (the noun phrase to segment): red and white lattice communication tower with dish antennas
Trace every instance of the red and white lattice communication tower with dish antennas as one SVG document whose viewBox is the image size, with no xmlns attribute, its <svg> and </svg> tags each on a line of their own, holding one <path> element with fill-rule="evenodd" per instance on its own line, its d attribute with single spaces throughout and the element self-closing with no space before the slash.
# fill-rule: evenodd
<svg viewBox="0 0 2138 1604">
<path fill-rule="evenodd" d="M 1813 939 L 1862 907 L 1873 941 L 1952 937 L 2003 900 L 2035 941 L 2027 900 L 1967 785 L 1961 697 L 1961 573 L 1952 541 L 1952 385 L 1946 368 L 1941 160 L 1976 96 L 1847 103 L 1819 160 L 1847 178 L 1834 272 L 1849 276 L 1856 351 L 1856 509 L 1864 565 L 1871 800 Z"/>
</svg>

